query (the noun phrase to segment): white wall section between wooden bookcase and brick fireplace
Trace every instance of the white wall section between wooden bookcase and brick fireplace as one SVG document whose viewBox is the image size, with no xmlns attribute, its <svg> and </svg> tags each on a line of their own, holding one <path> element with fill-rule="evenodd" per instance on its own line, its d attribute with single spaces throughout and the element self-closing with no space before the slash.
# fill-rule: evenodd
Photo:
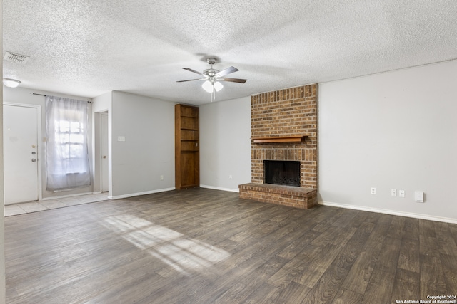
<svg viewBox="0 0 457 304">
<path fill-rule="evenodd" d="M 201 187 L 238 192 L 238 184 L 248 182 L 251 182 L 251 97 L 201 105 Z"/>
</svg>

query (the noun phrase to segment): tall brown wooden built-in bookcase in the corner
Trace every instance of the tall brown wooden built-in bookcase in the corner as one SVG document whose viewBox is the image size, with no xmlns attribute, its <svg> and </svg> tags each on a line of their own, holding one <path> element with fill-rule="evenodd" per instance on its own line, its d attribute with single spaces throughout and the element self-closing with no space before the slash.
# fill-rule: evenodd
<svg viewBox="0 0 457 304">
<path fill-rule="evenodd" d="M 200 186 L 199 108 L 175 105 L 175 187 Z"/>
</svg>

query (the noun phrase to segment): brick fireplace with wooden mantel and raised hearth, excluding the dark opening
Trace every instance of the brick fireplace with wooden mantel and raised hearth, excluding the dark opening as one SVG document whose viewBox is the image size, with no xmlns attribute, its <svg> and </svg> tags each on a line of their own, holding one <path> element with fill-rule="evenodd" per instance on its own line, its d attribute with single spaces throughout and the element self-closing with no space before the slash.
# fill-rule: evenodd
<svg viewBox="0 0 457 304">
<path fill-rule="evenodd" d="M 308 209 L 317 204 L 317 84 L 251 96 L 251 183 L 242 199 Z M 265 160 L 300 162 L 299 187 L 266 184 Z"/>
</svg>

